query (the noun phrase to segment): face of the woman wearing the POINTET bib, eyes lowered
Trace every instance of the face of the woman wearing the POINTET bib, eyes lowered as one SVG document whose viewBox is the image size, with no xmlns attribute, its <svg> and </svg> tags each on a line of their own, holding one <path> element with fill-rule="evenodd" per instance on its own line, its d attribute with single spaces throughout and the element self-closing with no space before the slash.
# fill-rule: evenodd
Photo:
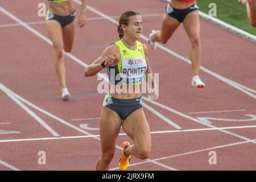
<svg viewBox="0 0 256 182">
<path fill-rule="evenodd" d="M 126 34 L 130 38 L 139 39 L 142 35 L 142 18 L 141 15 L 130 16 L 128 26 L 125 26 Z"/>
</svg>

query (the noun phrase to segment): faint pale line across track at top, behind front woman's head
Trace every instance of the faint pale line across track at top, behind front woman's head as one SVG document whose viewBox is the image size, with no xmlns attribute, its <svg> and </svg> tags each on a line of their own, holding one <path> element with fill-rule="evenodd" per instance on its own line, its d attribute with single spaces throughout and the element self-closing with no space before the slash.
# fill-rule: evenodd
<svg viewBox="0 0 256 182">
<path fill-rule="evenodd" d="M 142 17 L 154 17 L 154 16 L 163 16 L 163 14 L 142 14 Z M 119 16 L 110 16 L 111 18 L 118 19 Z M 102 17 L 90 17 L 87 18 L 88 21 L 92 20 L 105 20 L 105 18 Z M 78 19 L 76 18 L 75 21 L 77 22 Z M 46 24 L 46 21 L 36 21 L 36 22 L 25 22 L 28 25 L 38 25 L 38 24 Z M 7 23 L 7 24 L 0 24 L 0 28 L 6 28 L 6 27 L 17 27 L 21 26 L 19 23 Z"/>
</svg>

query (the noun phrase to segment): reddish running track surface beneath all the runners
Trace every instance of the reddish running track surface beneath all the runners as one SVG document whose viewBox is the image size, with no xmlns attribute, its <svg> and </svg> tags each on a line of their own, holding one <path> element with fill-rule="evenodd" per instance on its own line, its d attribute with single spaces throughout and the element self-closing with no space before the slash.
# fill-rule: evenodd
<svg viewBox="0 0 256 182">
<path fill-rule="evenodd" d="M 0 170 L 94 170 L 100 157 L 98 118 L 104 95 L 97 92 L 97 77 L 85 78 L 84 67 L 74 60 L 90 64 L 106 46 L 118 40 L 117 25 L 106 18 L 118 20 L 124 11 L 137 10 L 142 14 L 143 35 L 147 37 L 151 29 L 160 28 L 166 4 L 90 1 L 88 24 L 76 28 L 75 58 L 65 56 L 73 98 L 63 102 L 44 17 L 37 14 L 40 2 L 0 2 L 1 9 L 19 19 L 3 11 L 0 14 Z M 79 14 L 77 3 L 76 10 Z M 21 21 L 31 29 L 21 26 Z M 189 56 L 190 43 L 180 26 L 162 45 L 166 49 L 150 51 L 148 56 L 153 72 L 159 73 L 160 89 L 158 100 L 144 100 L 152 131 L 150 159 L 154 162 L 132 158 L 129 170 L 256 169 L 256 52 L 252 51 L 256 44 L 203 19 L 200 23 L 200 75 L 207 87 L 191 87 L 191 65 L 183 61 Z M 145 39 L 141 41 L 146 43 Z M 117 145 L 124 140 L 131 141 L 120 135 Z M 39 151 L 46 152 L 45 165 L 38 163 Z M 217 164 L 209 164 L 210 151 L 217 155 Z M 110 169 L 118 169 L 120 155 L 117 148 Z"/>
</svg>

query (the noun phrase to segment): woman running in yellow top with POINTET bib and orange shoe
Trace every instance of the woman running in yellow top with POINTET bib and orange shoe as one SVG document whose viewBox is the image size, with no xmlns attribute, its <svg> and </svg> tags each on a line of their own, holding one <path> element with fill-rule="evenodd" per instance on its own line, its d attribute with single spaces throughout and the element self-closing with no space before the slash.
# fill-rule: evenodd
<svg viewBox="0 0 256 182">
<path fill-rule="evenodd" d="M 120 40 L 106 48 L 102 55 L 85 69 L 85 76 L 94 76 L 106 67 L 110 86 L 117 88 L 115 92 L 106 94 L 103 102 L 100 119 L 101 156 L 96 170 L 109 169 L 121 126 L 134 144 L 123 142 L 119 169 L 125 170 L 129 166 L 131 155 L 142 160 L 150 156 L 151 134 L 143 111 L 140 84 L 143 75 L 152 71 L 147 59 L 148 48 L 137 41 L 141 38 L 142 29 L 139 13 L 123 13 L 118 26 Z M 151 94 L 157 94 L 154 77 L 151 77 L 150 81 L 153 85 Z"/>
</svg>

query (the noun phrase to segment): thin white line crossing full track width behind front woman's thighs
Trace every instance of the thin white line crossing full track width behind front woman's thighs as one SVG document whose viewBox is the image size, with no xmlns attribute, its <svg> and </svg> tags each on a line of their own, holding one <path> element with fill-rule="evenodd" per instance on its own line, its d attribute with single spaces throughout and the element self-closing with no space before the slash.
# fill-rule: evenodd
<svg viewBox="0 0 256 182">
<path fill-rule="evenodd" d="M 183 133 L 183 132 L 196 132 L 196 131 L 214 131 L 214 130 L 231 130 L 231 129 L 250 129 L 254 128 L 256 125 L 249 126 L 230 126 L 230 127 L 215 127 L 215 128 L 205 128 L 205 129 L 189 129 L 189 130 L 166 130 L 166 131 L 151 131 L 151 134 L 165 134 L 165 133 Z M 125 133 L 119 133 L 118 136 L 125 136 Z M 0 140 L 0 143 L 5 142 L 29 142 L 36 140 L 59 140 L 59 139 L 79 139 L 79 138 L 94 138 L 100 137 L 100 135 L 81 135 L 72 137 L 49 137 L 49 138 L 24 138 L 24 139 L 6 139 Z"/>
</svg>

